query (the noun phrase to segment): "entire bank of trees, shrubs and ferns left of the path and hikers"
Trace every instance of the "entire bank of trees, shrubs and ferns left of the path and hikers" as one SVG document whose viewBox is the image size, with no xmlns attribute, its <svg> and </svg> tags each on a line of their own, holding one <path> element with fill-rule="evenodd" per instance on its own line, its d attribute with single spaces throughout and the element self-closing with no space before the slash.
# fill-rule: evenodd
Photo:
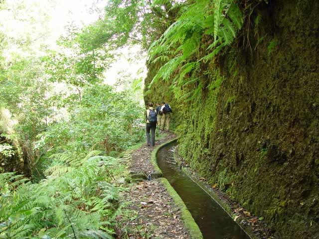
<svg viewBox="0 0 319 239">
<path fill-rule="evenodd" d="M 1 1 L 0 13 L 17 7 L 17 21 L 37 24 L 24 3 Z M 10 33 L 0 32 L 0 238 L 114 238 L 116 157 L 145 137 L 140 79 L 105 84 L 114 55 L 85 29 L 70 26 L 54 50 Z"/>
</svg>

